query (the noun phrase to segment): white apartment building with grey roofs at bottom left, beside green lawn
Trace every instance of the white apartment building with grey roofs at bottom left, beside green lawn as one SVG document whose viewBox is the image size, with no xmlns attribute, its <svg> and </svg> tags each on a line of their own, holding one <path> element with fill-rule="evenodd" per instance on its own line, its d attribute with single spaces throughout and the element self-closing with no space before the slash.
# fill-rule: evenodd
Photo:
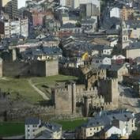
<svg viewBox="0 0 140 140">
<path fill-rule="evenodd" d="M 25 139 L 61 139 L 62 126 L 54 123 L 44 123 L 38 118 L 25 120 Z"/>
</svg>

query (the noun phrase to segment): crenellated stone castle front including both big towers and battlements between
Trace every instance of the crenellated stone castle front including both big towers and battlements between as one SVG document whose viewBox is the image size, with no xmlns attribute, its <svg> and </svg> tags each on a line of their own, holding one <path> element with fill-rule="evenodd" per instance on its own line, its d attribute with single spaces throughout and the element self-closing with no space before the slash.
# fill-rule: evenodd
<svg viewBox="0 0 140 140">
<path fill-rule="evenodd" d="M 101 86 L 100 86 L 101 85 Z M 97 110 L 112 110 L 118 107 L 118 81 L 104 78 L 99 80 L 99 87 L 86 89 L 74 82 L 52 89 L 55 112 L 62 115 L 76 114 L 77 103 L 83 104 L 83 115 L 89 116 Z"/>
</svg>

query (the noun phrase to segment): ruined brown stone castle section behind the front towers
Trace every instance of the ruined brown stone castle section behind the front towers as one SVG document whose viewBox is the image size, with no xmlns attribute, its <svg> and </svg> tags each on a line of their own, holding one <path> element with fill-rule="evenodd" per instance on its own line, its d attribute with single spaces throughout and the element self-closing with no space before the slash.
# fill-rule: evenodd
<svg viewBox="0 0 140 140">
<path fill-rule="evenodd" d="M 79 83 L 85 84 L 86 89 L 97 86 L 97 81 L 107 77 L 105 69 L 92 68 L 90 65 L 80 66 L 79 68 L 60 67 L 59 72 L 64 75 L 76 76 Z"/>
</svg>

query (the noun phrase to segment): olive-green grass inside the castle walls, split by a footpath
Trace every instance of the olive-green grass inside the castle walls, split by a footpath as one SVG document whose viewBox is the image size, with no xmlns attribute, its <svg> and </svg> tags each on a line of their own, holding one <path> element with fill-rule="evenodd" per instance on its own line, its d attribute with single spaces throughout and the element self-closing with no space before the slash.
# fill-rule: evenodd
<svg viewBox="0 0 140 140">
<path fill-rule="evenodd" d="M 20 93 L 22 97 L 31 103 L 36 103 L 42 100 L 42 97 L 29 85 L 28 79 L 22 78 L 22 79 L 13 79 L 13 78 L 7 78 L 8 80 L 2 80 L 0 79 L 0 88 L 2 91 L 10 91 L 12 93 L 12 96 L 15 97 L 16 93 Z M 76 79 L 75 77 L 71 76 L 63 76 L 63 75 L 57 75 L 52 77 L 37 77 L 37 78 L 31 78 L 32 82 L 40 89 L 44 90 L 42 88 L 43 84 L 52 85 L 56 81 L 63 81 L 63 80 L 73 80 Z"/>
</svg>

